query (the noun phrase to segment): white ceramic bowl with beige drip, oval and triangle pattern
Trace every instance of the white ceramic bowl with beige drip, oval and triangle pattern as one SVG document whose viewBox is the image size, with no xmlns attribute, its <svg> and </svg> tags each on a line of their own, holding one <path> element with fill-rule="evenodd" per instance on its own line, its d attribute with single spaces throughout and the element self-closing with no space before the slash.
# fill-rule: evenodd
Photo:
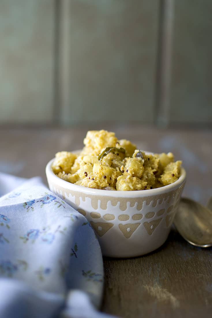
<svg viewBox="0 0 212 318">
<path fill-rule="evenodd" d="M 87 218 L 103 255 L 140 256 L 166 241 L 186 182 L 183 168 L 177 181 L 158 189 L 108 191 L 60 179 L 51 169 L 53 160 L 46 166 L 50 190 Z"/>
</svg>

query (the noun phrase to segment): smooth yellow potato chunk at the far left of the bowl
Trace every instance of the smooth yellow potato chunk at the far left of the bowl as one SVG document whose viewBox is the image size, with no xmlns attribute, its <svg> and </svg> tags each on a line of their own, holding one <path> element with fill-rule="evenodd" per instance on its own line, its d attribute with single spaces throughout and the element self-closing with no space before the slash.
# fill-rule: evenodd
<svg viewBox="0 0 212 318">
<path fill-rule="evenodd" d="M 52 165 L 52 170 L 55 174 L 59 172 L 69 173 L 71 172 L 71 167 L 76 159 L 76 155 L 68 151 L 61 151 L 56 153 L 55 160 Z"/>
</svg>

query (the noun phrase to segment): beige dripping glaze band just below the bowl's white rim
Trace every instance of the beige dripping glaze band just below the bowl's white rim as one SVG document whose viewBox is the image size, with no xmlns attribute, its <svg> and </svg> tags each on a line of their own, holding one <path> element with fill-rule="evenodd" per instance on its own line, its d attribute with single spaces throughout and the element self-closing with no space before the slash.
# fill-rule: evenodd
<svg viewBox="0 0 212 318">
<path fill-rule="evenodd" d="M 134 207 L 135 204 L 137 204 L 138 211 L 141 211 L 143 207 L 143 202 L 146 202 L 146 205 L 150 205 L 150 203 L 153 201 L 152 207 L 155 207 L 157 205 L 158 200 L 159 200 L 159 204 L 162 204 L 163 200 L 167 200 L 167 199 L 168 199 L 167 202 L 170 203 L 171 200 L 177 195 L 179 195 L 184 188 L 184 184 L 183 184 L 178 189 L 170 191 L 165 194 L 159 194 L 159 195 L 154 195 L 151 197 L 142 197 L 142 198 L 139 198 L 139 197 L 138 198 L 123 198 L 123 197 L 119 198 L 119 197 L 110 197 L 110 196 L 103 197 L 103 196 L 95 195 L 95 194 L 94 195 L 85 194 L 80 191 L 73 191 L 66 188 L 62 188 L 58 184 L 54 184 L 54 183 L 52 183 L 51 185 L 55 188 L 55 190 L 58 193 L 62 192 L 63 199 L 65 199 L 65 194 L 67 195 L 67 197 L 69 197 L 69 195 L 71 195 L 72 197 L 75 197 L 75 204 L 78 206 L 80 205 L 80 198 L 82 198 L 83 202 L 85 202 L 86 198 L 90 198 L 91 205 L 94 210 L 98 209 L 98 200 L 100 200 L 100 208 L 102 210 L 107 209 L 107 204 L 110 201 L 113 206 L 117 206 L 117 204 L 120 203 L 121 211 L 127 210 L 127 202 L 130 202 L 131 207 Z"/>
</svg>

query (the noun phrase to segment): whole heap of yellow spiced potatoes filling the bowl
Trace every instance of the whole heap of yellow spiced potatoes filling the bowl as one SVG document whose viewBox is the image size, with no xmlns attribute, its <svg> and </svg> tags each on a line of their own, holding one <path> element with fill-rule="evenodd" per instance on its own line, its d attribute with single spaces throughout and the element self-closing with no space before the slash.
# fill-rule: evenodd
<svg viewBox="0 0 212 318">
<path fill-rule="evenodd" d="M 52 169 L 59 178 L 89 188 L 131 191 L 159 188 L 180 176 L 181 161 L 174 162 L 171 152 L 146 153 L 113 132 L 88 131 L 84 145 L 77 156 L 67 151 L 55 155 Z"/>
</svg>

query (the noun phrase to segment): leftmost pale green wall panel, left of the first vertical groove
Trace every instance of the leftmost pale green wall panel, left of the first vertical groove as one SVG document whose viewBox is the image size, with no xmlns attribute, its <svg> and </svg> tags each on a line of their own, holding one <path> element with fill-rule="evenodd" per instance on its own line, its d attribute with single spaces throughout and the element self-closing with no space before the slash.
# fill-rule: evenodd
<svg viewBox="0 0 212 318">
<path fill-rule="evenodd" d="M 55 3 L 0 0 L 0 121 L 54 119 Z"/>
</svg>

